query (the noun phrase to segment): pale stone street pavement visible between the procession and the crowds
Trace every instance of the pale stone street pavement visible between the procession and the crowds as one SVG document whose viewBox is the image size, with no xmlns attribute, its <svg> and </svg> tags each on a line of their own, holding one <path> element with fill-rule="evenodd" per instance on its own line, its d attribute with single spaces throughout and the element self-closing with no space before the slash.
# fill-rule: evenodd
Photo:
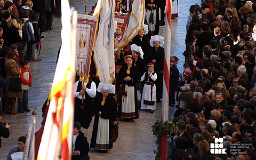
<svg viewBox="0 0 256 160">
<path fill-rule="evenodd" d="M 171 55 L 177 56 L 180 61 L 178 68 L 183 71 L 184 57 L 182 55 L 185 51 L 185 35 L 186 22 L 189 14 L 189 7 L 191 4 L 199 4 L 199 0 L 184 0 L 179 1 L 179 18 L 172 19 L 172 39 L 171 39 Z M 95 0 L 87 3 L 87 13 L 91 11 L 91 7 L 95 4 Z M 70 0 L 70 6 L 75 6 L 78 14 L 84 13 L 83 0 Z M 161 28 L 160 35 L 164 36 L 165 28 Z M 56 67 L 57 52 L 61 44 L 61 18 L 54 16 L 53 30 L 44 32 L 42 35 L 42 50 L 38 56 L 42 59 L 39 62 L 31 62 L 30 71 L 33 76 L 33 86 L 29 89 L 29 109 L 36 107 L 36 131 L 41 126 L 42 111 L 41 108 L 47 95 L 49 94 L 49 83 L 53 81 L 54 71 Z M 16 105 L 17 110 L 17 105 Z M 139 110 L 139 119 L 134 122 L 126 123 L 119 119 L 119 136 L 114 143 L 114 148 L 107 151 L 107 153 L 99 153 L 91 149 L 89 156 L 91 159 L 154 159 L 154 150 L 157 149 L 155 145 L 156 137 L 151 132 L 153 122 L 161 120 L 162 103 L 157 103 L 154 114 L 147 113 L 147 111 Z M 169 108 L 169 117 L 172 118 L 174 108 Z M 0 159 L 6 159 L 9 150 L 17 146 L 17 139 L 25 135 L 30 121 L 30 113 L 22 113 L 18 115 L 4 115 L 2 122 L 10 123 L 10 137 L 8 139 L 2 138 L 2 148 L 0 149 Z M 94 119 L 94 117 L 93 117 Z M 91 141 L 92 126 L 89 128 L 88 141 Z"/>
</svg>

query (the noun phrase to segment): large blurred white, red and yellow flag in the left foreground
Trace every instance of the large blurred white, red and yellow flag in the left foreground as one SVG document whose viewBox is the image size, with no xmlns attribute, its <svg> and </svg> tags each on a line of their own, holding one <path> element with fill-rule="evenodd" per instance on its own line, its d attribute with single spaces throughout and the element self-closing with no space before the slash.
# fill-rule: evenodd
<svg viewBox="0 0 256 160">
<path fill-rule="evenodd" d="M 73 85 L 75 77 L 75 25 L 77 12 L 67 0 L 61 0 L 62 46 L 50 93 L 47 114 L 37 160 L 71 159 L 74 121 Z M 71 21 L 71 23 L 69 23 Z M 70 44 L 71 43 L 71 44 Z"/>
</svg>

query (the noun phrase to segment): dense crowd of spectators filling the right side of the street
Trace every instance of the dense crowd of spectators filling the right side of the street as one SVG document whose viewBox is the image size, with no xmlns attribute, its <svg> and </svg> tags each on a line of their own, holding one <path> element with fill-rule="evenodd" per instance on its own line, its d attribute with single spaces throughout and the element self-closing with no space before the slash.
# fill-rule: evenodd
<svg viewBox="0 0 256 160">
<path fill-rule="evenodd" d="M 169 158 L 256 159 L 255 2 L 202 3 L 189 11 Z M 227 154 L 212 151 L 222 137 Z M 247 148 L 232 150 L 242 143 Z"/>
</svg>

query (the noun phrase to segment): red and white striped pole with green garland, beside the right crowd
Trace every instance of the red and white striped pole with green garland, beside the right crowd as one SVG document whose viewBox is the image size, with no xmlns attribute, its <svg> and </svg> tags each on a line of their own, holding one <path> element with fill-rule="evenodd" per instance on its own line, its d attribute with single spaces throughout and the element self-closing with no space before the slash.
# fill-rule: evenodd
<svg viewBox="0 0 256 160">
<path fill-rule="evenodd" d="M 165 18 L 165 53 L 164 53 L 164 75 L 163 75 L 163 100 L 162 100 L 162 122 L 168 120 L 169 115 L 169 82 L 170 82 L 170 53 L 171 53 L 171 20 L 172 1 L 166 0 Z M 161 160 L 167 159 L 167 135 L 161 135 Z"/>
</svg>

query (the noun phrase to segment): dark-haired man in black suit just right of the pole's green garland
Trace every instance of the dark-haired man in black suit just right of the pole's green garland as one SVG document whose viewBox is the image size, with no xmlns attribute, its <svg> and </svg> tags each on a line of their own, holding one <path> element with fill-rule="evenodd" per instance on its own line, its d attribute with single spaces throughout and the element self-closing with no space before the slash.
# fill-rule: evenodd
<svg viewBox="0 0 256 160">
<path fill-rule="evenodd" d="M 178 127 L 178 136 L 179 137 L 185 137 L 188 140 L 188 148 L 193 148 L 193 138 L 190 135 L 190 133 L 186 129 L 186 123 L 185 122 L 179 122 L 177 124 Z"/>
</svg>

